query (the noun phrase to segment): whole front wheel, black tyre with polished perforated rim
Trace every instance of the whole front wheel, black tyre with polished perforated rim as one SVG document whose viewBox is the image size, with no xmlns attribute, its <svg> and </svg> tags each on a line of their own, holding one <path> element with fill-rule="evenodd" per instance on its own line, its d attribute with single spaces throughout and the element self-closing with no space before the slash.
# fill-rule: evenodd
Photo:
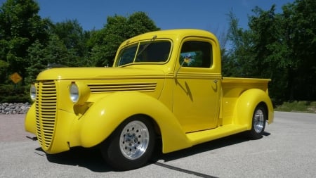
<svg viewBox="0 0 316 178">
<path fill-rule="evenodd" d="M 131 170 L 147 163 L 155 140 L 152 122 L 138 115 L 121 123 L 100 148 L 108 165 L 116 170 Z"/>
</svg>

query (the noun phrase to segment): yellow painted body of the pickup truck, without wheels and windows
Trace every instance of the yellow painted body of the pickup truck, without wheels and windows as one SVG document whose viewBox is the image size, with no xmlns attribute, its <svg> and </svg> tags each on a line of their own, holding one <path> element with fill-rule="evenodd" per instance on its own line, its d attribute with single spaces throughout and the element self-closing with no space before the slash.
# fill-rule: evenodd
<svg viewBox="0 0 316 178">
<path fill-rule="evenodd" d="M 153 38 L 154 37 L 154 38 Z M 118 65 L 126 46 L 164 40 L 171 44 L 166 61 Z M 181 66 L 185 42 L 211 44 L 209 68 Z M 146 46 L 147 47 L 147 46 Z M 140 47 L 137 49 L 140 50 Z M 169 153 L 251 129 L 254 108 L 262 103 L 273 121 L 268 82 L 223 78 L 218 40 L 203 30 L 149 32 L 123 42 L 113 68 L 53 68 L 37 77 L 37 100 L 25 117 L 25 129 L 36 134 L 46 153 L 74 146 L 92 147 L 132 115 L 146 115 Z M 70 85 L 79 101 L 70 100 Z"/>
</svg>

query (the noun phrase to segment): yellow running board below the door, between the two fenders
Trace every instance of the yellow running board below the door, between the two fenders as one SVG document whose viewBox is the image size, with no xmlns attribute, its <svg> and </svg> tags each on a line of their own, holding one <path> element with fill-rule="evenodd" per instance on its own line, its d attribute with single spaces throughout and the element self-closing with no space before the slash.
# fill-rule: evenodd
<svg viewBox="0 0 316 178">
<path fill-rule="evenodd" d="M 237 134 L 247 130 L 246 125 L 224 125 L 214 129 L 207 129 L 199 132 L 188 133 L 187 139 L 192 141 L 192 144 L 202 144 L 206 141 L 223 138 L 232 134 Z"/>
</svg>

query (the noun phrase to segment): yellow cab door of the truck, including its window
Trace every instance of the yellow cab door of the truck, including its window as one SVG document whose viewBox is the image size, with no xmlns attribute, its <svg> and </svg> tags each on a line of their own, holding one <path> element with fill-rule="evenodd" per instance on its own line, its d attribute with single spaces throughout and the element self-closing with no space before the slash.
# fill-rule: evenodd
<svg viewBox="0 0 316 178">
<path fill-rule="evenodd" d="M 173 82 L 173 113 L 185 132 L 218 126 L 221 75 L 213 63 L 212 43 L 186 39 Z"/>
</svg>

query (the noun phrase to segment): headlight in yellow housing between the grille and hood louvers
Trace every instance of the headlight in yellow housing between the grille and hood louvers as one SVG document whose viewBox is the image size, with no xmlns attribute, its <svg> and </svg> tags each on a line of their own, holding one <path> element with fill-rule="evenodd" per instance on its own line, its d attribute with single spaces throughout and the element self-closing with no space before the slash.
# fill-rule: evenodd
<svg viewBox="0 0 316 178">
<path fill-rule="evenodd" d="M 76 105 L 84 105 L 90 96 L 90 89 L 82 82 L 72 82 L 69 87 L 70 100 Z"/>
</svg>

